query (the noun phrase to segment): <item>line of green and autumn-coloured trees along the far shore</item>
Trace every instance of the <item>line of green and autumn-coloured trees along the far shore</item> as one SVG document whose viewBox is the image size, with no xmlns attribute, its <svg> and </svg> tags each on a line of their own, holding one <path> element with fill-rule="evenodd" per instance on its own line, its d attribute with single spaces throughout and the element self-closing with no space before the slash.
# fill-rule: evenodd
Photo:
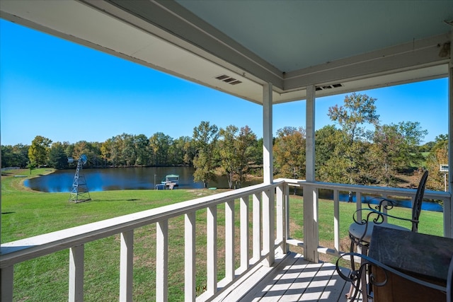
<svg viewBox="0 0 453 302">
<path fill-rule="evenodd" d="M 447 135 L 420 145 L 428 132 L 419 122 L 381 124 L 375 98 L 352 93 L 343 105 L 328 110 L 333 124 L 315 133 L 316 180 L 357 185 L 396 186 L 401 174 L 413 174 L 413 183 L 423 169 L 430 170 L 428 188 L 443 190 L 440 164 L 447 163 Z M 301 179 L 305 175 L 306 133 L 303 127 L 277 129 L 273 139 L 276 177 Z M 119 134 L 106 141 L 52 142 L 37 136 L 30 146 L 1 146 L 1 166 L 56 169 L 74 168 L 68 158 L 86 154 L 87 168 L 123 166 L 188 165 L 194 178 L 205 187 L 217 175 L 228 179 L 229 187 L 241 187 L 248 175 L 261 175 L 263 139 L 248 127 L 234 125 L 219 129 L 201 122 L 192 137 L 173 139 L 162 132 Z M 415 173 L 414 173 L 415 172 Z"/>
</svg>

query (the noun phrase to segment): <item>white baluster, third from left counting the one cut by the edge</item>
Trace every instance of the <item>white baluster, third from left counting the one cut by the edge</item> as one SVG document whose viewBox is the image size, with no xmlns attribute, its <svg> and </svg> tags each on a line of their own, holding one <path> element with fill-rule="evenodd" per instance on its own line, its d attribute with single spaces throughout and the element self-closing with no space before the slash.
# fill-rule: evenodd
<svg viewBox="0 0 453 302">
<path fill-rule="evenodd" d="M 132 302 L 134 277 L 134 230 L 121 233 L 120 248 L 120 301 Z"/>
</svg>

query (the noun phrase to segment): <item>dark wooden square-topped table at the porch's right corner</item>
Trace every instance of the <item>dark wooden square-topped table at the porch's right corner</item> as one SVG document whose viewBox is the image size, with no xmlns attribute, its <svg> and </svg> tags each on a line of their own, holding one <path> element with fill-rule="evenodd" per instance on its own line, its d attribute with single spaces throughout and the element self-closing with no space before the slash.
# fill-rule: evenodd
<svg viewBox="0 0 453 302">
<path fill-rule="evenodd" d="M 453 239 L 374 226 L 369 257 L 412 277 L 440 286 L 447 285 Z M 382 269 L 372 268 L 377 281 Z M 384 286 L 373 286 L 374 302 L 446 301 L 445 292 L 430 289 L 387 272 Z"/>
</svg>

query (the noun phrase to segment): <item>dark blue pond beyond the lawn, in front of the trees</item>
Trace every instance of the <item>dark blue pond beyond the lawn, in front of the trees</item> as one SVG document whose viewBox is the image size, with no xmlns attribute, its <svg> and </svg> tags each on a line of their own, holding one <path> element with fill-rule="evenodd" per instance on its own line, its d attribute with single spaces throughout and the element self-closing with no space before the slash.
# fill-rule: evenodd
<svg viewBox="0 0 453 302">
<path fill-rule="evenodd" d="M 179 187 L 181 189 L 202 189 L 202 182 L 193 181 L 194 169 L 190 167 L 147 167 L 147 168 L 105 168 L 84 169 L 86 185 L 90 192 L 109 190 L 152 190 L 164 180 L 165 175 L 179 175 Z M 32 190 L 41 192 L 71 192 L 75 170 L 57 170 L 55 173 L 44 175 L 39 178 L 25 180 L 24 185 Z M 243 187 L 256 185 L 261 180 L 246 182 Z M 226 177 L 219 178 L 216 182 L 209 182 L 209 187 L 227 188 Z M 292 192 L 291 192 L 292 194 Z M 297 190 L 302 194 L 302 190 Z M 319 190 L 319 197 L 333 199 L 332 190 Z M 368 202 L 372 198 L 362 196 L 362 202 Z M 340 201 L 348 202 L 348 192 L 340 192 Z M 352 197 L 355 202 L 355 194 Z M 410 200 L 396 200 L 398 207 L 411 207 Z M 423 202 L 422 209 L 427 211 L 443 211 L 440 204 L 435 202 Z"/>
</svg>

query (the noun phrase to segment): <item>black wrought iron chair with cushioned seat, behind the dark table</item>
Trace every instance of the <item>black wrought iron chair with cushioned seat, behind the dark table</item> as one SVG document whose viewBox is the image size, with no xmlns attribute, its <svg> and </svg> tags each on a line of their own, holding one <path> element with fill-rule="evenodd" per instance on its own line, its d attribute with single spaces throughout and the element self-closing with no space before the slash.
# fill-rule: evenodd
<svg viewBox="0 0 453 302">
<path fill-rule="evenodd" d="M 371 242 L 371 234 L 373 231 L 373 227 L 375 225 L 386 226 L 387 228 L 397 228 L 400 230 L 413 231 L 413 232 L 418 231 L 418 222 L 419 222 L 418 219 L 420 217 L 420 211 L 421 211 L 421 206 L 422 206 L 422 202 L 423 202 L 423 195 L 425 194 L 425 185 L 426 185 L 427 180 L 428 180 L 428 170 L 426 170 L 425 173 L 423 173 L 420 183 L 418 184 L 418 189 L 417 189 L 417 192 L 415 193 L 415 198 L 413 199 L 411 219 L 393 216 L 393 215 L 390 215 L 390 214 L 384 212 L 383 209 L 386 209 L 386 211 L 389 211 L 393 207 L 395 207 L 394 200 L 387 199 L 384 197 L 373 198 L 372 200 L 369 201 L 368 208 L 358 209 L 357 211 L 355 211 L 354 215 L 352 216 L 352 219 L 354 220 L 354 222 L 351 223 L 351 225 L 349 227 L 349 237 L 351 240 L 350 261 L 351 261 L 352 271 L 355 271 L 355 257 L 354 257 L 354 255 L 356 255 L 354 253 L 355 248 L 357 247 L 357 252 L 359 254 L 365 255 L 365 256 L 367 255 L 369 243 Z M 374 199 L 379 199 L 379 203 L 372 204 L 372 201 Z M 365 213 L 366 213 L 366 215 L 364 217 Z M 362 218 L 358 219 L 357 217 L 359 217 L 359 216 Z M 384 217 L 391 217 L 391 218 L 400 219 L 403 221 L 411 221 L 412 228 L 411 229 L 403 228 L 402 226 L 397 226 L 392 223 L 387 223 L 386 219 L 384 219 Z M 361 258 L 361 259 L 363 260 L 364 258 Z M 362 265 L 363 261 L 360 261 L 360 263 Z M 362 274 L 362 284 L 365 284 L 365 283 L 366 283 L 365 274 Z M 351 290 L 350 290 L 350 293 L 348 294 L 347 298 L 350 298 L 352 296 L 352 289 L 354 287 L 357 287 L 357 284 L 351 284 Z M 366 302 L 367 296 L 364 296 L 363 300 Z"/>
</svg>

